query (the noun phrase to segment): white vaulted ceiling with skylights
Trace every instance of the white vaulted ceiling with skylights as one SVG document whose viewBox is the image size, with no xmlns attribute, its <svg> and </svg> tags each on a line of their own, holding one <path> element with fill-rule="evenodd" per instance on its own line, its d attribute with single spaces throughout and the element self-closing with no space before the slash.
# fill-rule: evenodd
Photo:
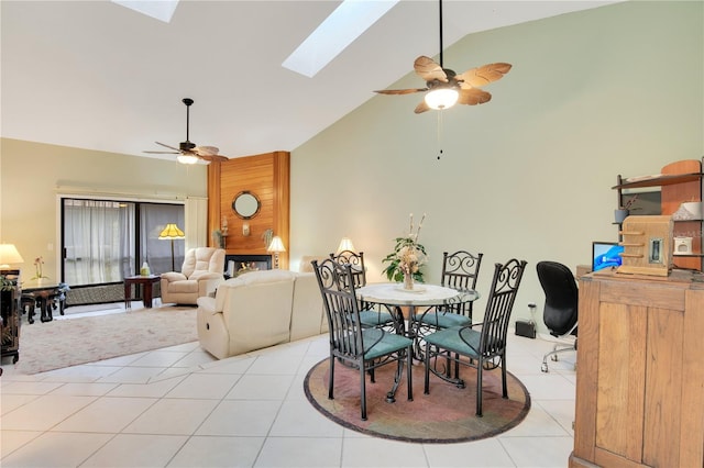
<svg viewBox="0 0 704 468">
<path fill-rule="evenodd" d="M 606 3 L 446 0 L 444 47 Z M 1 136 L 143 155 L 186 138 L 191 98 L 191 142 L 293 151 L 439 51 L 438 2 L 402 0 L 314 78 L 282 67 L 338 4 L 182 0 L 167 24 L 107 0 L 2 0 Z"/>
</svg>

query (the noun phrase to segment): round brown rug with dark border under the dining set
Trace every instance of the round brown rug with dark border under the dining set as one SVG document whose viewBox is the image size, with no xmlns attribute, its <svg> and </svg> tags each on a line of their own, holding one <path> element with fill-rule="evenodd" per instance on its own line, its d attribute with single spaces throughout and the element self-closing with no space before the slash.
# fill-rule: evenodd
<svg viewBox="0 0 704 468">
<path fill-rule="evenodd" d="M 366 376 L 366 421 L 360 413 L 360 374 L 336 364 L 334 399 L 328 399 L 329 359 L 308 371 L 306 397 L 324 416 L 342 426 L 375 437 L 424 444 L 448 444 L 493 437 L 518 425 L 530 410 L 530 395 L 524 385 L 507 374 L 508 399 L 502 398 L 501 369 L 485 370 L 482 417 L 476 412 L 476 370 L 460 369 L 465 388 L 430 375 L 430 394 L 424 394 L 424 366 L 413 366 L 414 400 L 408 401 L 406 369 L 396 391 L 396 401 L 386 402 L 394 382 L 396 365 L 375 370 L 375 383 Z"/>
</svg>

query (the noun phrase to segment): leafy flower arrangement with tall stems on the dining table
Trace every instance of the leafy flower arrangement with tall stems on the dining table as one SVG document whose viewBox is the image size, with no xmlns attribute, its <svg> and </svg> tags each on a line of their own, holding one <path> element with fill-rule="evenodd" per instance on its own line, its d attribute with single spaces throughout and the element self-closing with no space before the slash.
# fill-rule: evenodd
<svg viewBox="0 0 704 468">
<path fill-rule="evenodd" d="M 405 237 L 396 237 L 394 252 L 388 254 L 382 263 L 388 263 L 384 274 L 389 281 L 420 281 L 422 282 L 422 271 L 420 267 L 428 260 L 426 247 L 418 243 L 420 229 L 426 215 L 424 214 L 414 233 L 414 214 L 410 213 L 410 230 Z M 411 289 L 411 288 L 408 288 Z"/>
</svg>

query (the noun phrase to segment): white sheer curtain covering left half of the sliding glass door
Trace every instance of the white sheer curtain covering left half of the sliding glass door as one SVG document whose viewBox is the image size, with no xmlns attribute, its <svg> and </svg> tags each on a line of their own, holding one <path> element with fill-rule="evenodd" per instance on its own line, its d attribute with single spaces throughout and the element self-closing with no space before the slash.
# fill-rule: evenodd
<svg viewBox="0 0 704 468">
<path fill-rule="evenodd" d="M 64 281 L 96 285 L 133 274 L 135 204 L 64 199 Z"/>
</svg>

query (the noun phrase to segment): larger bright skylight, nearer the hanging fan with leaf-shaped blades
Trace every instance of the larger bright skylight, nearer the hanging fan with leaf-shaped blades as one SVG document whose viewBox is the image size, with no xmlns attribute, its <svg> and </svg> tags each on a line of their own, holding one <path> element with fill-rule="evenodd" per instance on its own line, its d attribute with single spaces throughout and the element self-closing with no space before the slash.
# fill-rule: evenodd
<svg viewBox="0 0 704 468">
<path fill-rule="evenodd" d="M 398 1 L 344 0 L 282 65 L 312 78 Z"/>
</svg>

